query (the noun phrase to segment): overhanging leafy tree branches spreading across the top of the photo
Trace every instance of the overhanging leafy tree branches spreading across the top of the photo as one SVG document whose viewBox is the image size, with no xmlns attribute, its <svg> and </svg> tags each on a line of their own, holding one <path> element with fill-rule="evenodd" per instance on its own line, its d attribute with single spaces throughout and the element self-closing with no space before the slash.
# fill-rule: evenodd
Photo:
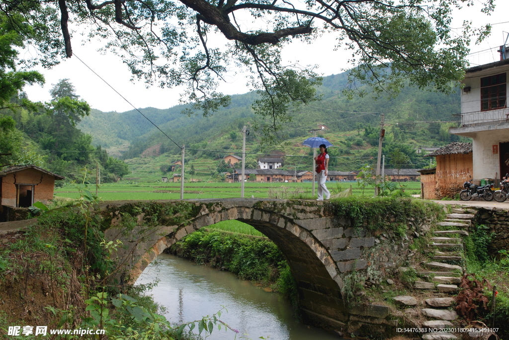
<svg viewBox="0 0 509 340">
<path fill-rule="evenodd" d="M 313 43 L 334 35 L 334 48 L 352 50 L 350 82 L 372 84 L 378 93 L 398 92 L 405 81 L 450 90 L 463 77 L 470 38 L 482 40 L 491 28 L 473 29 L 466 22 L 463 32 L 453 34 L 451 13 L 464 5 L 472 2 L 1 0 L 0 11 L 8 19 L 22 18 L 14 21 L 15 29 L 32 33 L 43 65 L 57 63 L 56 55 L 71 57 L 72 32 L 86 27 L 87 38 L 118 54 L 133 78 L 161 87 L 186 85 L 188 113 L 207 115 L 229 105 L 229 97 L 216 91 L 218 82 L 232 67 L 247 70 L 249 85 L 260 95 L 253 104 L 262 117 L 258 128 L 267 132 L 290 121 L 294 105 L 319 98 L 315 87 L 321 79 L 313 67 L 282 60 L 281 48 L 293 40 Z M 493 9 L 494 0 L 484 0 L 482 11 Z"/>
</svg>

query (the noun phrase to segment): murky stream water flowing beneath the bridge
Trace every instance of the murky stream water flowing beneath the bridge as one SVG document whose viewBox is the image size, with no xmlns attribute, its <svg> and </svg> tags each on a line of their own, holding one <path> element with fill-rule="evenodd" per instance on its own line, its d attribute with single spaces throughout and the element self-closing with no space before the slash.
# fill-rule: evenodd
<svg viewBox="0 0 509 340">
<path fill-rule="evenodd" d="M 136 283 L 148 284 L 159 279 L 148 294 L 167 308 L 170 322 L 182 323 L 212 315 L 225 306 L 220 319 L 240 334 L 256 339 L 260 336 L 275 340 L 337 340 L 321 329 L 299 324 L 293 310 L 277 294 L 253 287 L 235 275 L 162 254 L 159 266 L 149 265 Z M 210 340 L 231 340 L 233 331 L 214 330 Z M 237 337 L 239 338 L 239 337 Z"/>
</svg>

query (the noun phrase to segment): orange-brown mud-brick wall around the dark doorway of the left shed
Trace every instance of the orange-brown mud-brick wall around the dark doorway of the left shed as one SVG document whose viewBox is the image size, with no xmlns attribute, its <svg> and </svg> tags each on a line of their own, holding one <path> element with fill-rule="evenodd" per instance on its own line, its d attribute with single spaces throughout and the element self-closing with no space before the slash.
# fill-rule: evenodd
<svg viewBox="0 0 509 340">
<path fill-rule="evenodd" d="M 24 169 L 0 177 L 2 180 L 2 205 L 16 206 L 16 184 L 34 184 L 34 202 L 44 204 L 53 199 L 55 178 L 36 169 Z"/>
</svg>

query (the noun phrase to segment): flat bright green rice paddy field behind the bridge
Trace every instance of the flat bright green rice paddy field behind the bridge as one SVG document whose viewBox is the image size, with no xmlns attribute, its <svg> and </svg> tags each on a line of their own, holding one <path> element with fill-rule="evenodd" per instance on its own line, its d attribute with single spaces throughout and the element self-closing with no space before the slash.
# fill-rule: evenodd
<svg viewBox="0 0 509 340">
<path fill-rule="evenodd" d="M 406 191 L 411 195 L 420 194 L 420 182 L 402 182 Z M 366 189 L 362 193 L 357 182 L 327 182 L 327 188 L 334 194 L 346 190 L 352 186 L 354 195 L 372 196 L 373 189 Z M 315 198 L 316 190 L 315 189 Z M 95 185 L 90 189 L 95 191 Z M 55 196 L 62 198 L 79 198 L 79 193 L 74 184 L 55 189 Z M 154 182 L 129 182 L 102 184 L 98 196 L 104 201 L 116 200 L 167 200 L 180 199 L 180 183 L 160 181 Z M 238 198 L 240 197 L 240 183 L 223 182 L 196 182 L 184 183 L 184 199 L 200 198 Z M 244 184 L 245 198 L 313 198 L 312 183 L 257 183 L 246 182 Z"/>
</svg>

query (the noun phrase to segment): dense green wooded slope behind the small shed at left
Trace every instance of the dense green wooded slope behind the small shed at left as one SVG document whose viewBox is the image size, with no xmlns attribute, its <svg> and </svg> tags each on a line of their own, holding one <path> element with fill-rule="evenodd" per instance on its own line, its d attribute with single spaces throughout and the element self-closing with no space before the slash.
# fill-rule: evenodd
<svg viewBox="0 0 509 340">
<path fill-rule="evenodd" d="M 81 179 L 82 169 L 101 169 L 101 181 L 116 181 L 129 173 L 127 165 L 108 156 L 92 137 L 76 128 L 90 107 L 79 99 L 74 86 L 62 79 L 50 91 L 50 103 L 32 103 L 23 92 L 14 94 L 0 109 L 0 168 L 34 164 L 65 176 Z"/>
</svg>

